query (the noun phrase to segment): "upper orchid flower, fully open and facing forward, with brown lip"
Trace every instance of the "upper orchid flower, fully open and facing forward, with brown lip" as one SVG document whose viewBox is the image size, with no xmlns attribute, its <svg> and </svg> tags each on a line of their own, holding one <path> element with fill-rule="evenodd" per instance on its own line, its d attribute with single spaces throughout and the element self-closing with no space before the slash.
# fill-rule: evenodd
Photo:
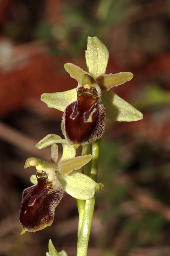
<svg viewBox="0 0 170 256">
<path fill-rule="evenodd" d="M 97 38 L 88 37 L 85 51 L 88 72 L 72 63 L 64 65 L 77 80 L 75 89 L 59 93 L 43 93 L 41 100 L 49 108 L 63 111 L 62 132 L 71 145 L 93 143 L 102 137 L 105 117 L 116 121 L 137 121 L 143 114 L 110 89 L 133 78 L 130 72 L 105 75 L 108 49 Z"/>
</svg>

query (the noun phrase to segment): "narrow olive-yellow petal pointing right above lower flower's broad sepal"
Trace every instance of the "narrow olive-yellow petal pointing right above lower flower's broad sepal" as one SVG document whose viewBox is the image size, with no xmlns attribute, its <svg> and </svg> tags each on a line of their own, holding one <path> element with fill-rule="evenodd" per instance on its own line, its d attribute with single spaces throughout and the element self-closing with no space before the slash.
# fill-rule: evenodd
<svg viewBox="0 0 170 256">
<path fill-rule="evenodd" d="M 78 170 L 86 163 L 90 162 L 92 155 L 84 155 L 82 157 L 75 157 L 67 160 L 62 160 L 58 163 L 58 172 L 62 175 L 67 175 L 73 170 Z"/>
</svg>

